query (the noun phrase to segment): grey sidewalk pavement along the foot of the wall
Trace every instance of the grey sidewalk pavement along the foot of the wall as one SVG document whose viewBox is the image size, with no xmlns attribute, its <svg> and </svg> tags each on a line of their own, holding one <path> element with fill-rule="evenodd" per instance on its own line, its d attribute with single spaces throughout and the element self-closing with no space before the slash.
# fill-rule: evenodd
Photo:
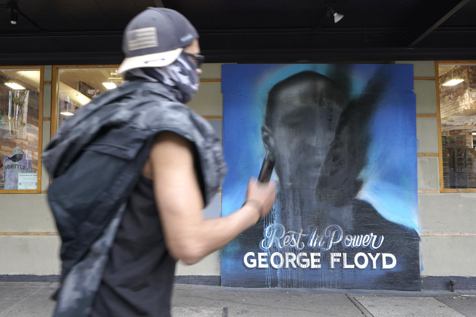
<svg viewBox="0 0 476 317">
<path fill-rule="evenodd" d="M 0 282 L 0 317 L 49 317 L 58 283 Z M 476 291 L 263 289 L 176 284 L 172 317 L 476 317 Z"/>
</svg>

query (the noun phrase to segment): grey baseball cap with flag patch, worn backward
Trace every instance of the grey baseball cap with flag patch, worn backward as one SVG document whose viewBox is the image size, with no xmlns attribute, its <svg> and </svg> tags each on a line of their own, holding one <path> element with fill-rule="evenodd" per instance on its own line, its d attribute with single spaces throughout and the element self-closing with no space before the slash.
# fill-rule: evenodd
<svg viewBox="0 0 476 317">
<path fill-rule="evenodd" d="M 124 60 L 119 74 L 132 68 L 172 64 L 198 38 L 190 21 L 167 8 L 148 7 L 127 24 L 122 38 Z"/>
</svg>

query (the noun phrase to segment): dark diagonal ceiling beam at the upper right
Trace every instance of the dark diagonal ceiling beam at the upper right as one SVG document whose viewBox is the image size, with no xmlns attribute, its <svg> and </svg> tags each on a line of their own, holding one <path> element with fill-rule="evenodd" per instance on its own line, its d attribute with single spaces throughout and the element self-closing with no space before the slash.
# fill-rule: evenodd
<svg viewBox="0 0 476 317">
<path fill-rule="evenodd" d="M 446 19 L 455 14 L 470 0 L 440 0 L 435 1 L 426 13 L 418 13 L 418 19 L 408 26 L 407 43 L 413 48 L 428 34 L 441 25 Z"/>
</svg>

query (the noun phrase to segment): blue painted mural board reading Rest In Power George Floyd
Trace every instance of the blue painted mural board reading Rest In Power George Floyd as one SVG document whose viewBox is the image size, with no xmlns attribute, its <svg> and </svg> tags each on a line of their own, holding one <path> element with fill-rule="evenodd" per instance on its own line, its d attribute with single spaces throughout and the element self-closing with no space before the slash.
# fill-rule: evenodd
<svg viewBox="0 0 476 317">
<path fill-rule="evenodd" d="M 265 154 L 278 187 L 222 285 L 419 290 L 413 66 L 224 65 L 222 93 L 222 215 Z"/>
</svg>

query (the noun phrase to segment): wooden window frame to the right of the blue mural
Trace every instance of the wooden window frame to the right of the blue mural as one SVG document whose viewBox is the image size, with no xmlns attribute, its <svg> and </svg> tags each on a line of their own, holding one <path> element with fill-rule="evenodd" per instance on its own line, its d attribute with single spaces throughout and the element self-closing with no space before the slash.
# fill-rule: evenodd
<svg viewBox="0 0 476 317">
<path fill-rule="evenodd" d="M 436 86 L 436 123 L 437 123 L 437 139 L 438 139 L 438 166 L 440 193 L 476 193 L 476 188 L 445 188 L 443 182 L 443 144 L 441 143 L 441 108 L 440 108 L 440 80 L 438 65 L 457 65 L 457 64 L 474 64 L 476 60 L 435 60 L 435 86 Z"/>
</svg>

